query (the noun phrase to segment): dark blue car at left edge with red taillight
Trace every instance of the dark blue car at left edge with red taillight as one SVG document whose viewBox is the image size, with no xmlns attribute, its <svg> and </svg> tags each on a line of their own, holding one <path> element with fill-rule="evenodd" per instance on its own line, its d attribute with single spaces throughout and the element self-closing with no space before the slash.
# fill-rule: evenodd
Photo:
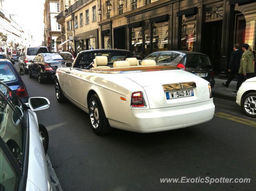
<svg viewBox="0 0 256 191">
<path fill-rule="evenodd" d="M 24 75 L 24 73 L 21 73 Z M 23 103 L 28 103 L 28 92 L 20 74 L 7 59 L 0 59 L 0 81 L 4 82 L 20 97 Z"/>
</svg>

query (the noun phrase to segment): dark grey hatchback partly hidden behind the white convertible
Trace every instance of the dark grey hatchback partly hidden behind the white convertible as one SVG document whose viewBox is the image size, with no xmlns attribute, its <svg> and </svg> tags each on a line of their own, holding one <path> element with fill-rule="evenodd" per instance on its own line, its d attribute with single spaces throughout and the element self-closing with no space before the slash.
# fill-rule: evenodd
<svg viewBox="0 0 256 191">
<path fill-rule="evenodd" d="M 156 65 L 171 65 L 195 74 L 210 82 L 214 87 L 214 72 L 210 58 L 206 54 L 189 51 L 159 51 L 148 55 L 143 60 L 155 60 Z"/>
</svg>

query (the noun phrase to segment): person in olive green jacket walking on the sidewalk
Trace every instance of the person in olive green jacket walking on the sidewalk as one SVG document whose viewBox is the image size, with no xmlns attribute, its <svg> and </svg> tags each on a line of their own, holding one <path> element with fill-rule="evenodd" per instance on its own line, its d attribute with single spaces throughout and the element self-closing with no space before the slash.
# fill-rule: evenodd
<svg viewBox="0 0 256 191">
<path fill-rule="evenodd" d="M 236 90 L 232 92 L 232 94 L 237 93 L 239 87 L 246 80 L 246 78 L 249 79 L 254 77 L 254 56 L 252 52 L 248 49 L 249 49 L 248 44 L 242 45 L 242 50 L 244 53 L 242 54 L 240 68 L 238 71 L 238 77 L 237 77 L 238 84 L 236 86 Z"/>
</svg>

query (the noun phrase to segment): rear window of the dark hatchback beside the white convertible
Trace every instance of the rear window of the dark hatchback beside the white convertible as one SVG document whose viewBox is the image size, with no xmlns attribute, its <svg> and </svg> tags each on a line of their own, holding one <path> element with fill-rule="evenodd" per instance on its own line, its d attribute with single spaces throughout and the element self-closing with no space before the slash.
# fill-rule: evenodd
<svg viewBox="0 0 256 191">
<path fill-rule="evenodd" d="M 187 54 L 186 68 L 211 67 L 211 62 L 208 56 L 201 54 Z"/>
</svg>

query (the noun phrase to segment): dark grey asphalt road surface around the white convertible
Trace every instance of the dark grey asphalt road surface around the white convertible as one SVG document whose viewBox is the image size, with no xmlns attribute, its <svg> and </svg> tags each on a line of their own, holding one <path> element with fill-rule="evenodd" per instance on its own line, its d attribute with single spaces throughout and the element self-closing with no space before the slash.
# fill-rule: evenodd
<svg viewBox="0 0 256 191">
<path fill-rule="evenodd" d="M 255 190 L 256 119 L 233 101 L 214 98 L 216 116 L 204 124 L 139 134 L 95 135 L 84 111 L 58 103 L 54 83 L 22 76 L 30 97 L 50 108 L 37 111 L 49 133 L 48 155 L 63 190 Z M 246 125 L 247 124 L 247 125 Z M 250 183 L 160 183 L 160 178 L 250 178 Z"/>
</svg>

